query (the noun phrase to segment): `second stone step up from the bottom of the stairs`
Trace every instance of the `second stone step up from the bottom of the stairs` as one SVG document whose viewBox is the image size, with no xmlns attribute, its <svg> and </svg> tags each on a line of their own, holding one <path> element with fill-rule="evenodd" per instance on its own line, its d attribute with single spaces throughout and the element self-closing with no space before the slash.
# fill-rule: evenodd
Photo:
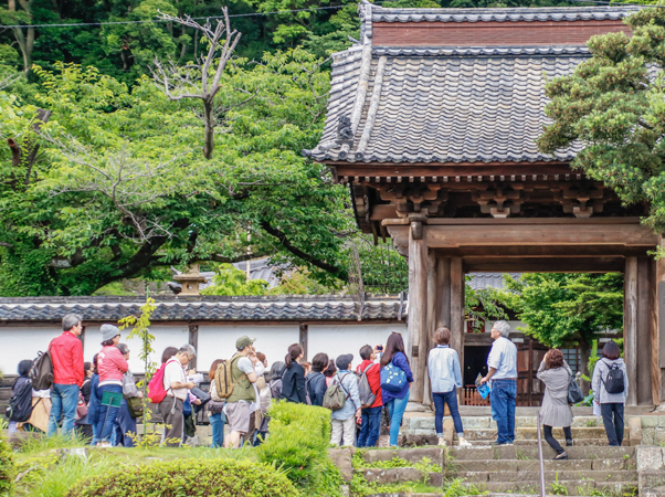
<svg viewBox="0 0 665 497">
<path fill-rule="evenodd" d="M 538 482 L 540 473 L 537 470 L 529 472 L 446 472 L 444 476 L 446 478 L 466 478 L 467 482 L 477 484 L 478 482 Z M 637 482 L 637 472 L 635 470 L 614 470 L 614 472 L 602 472 L 602 470 L 559 470 L 559 472 L 545 472 L 546 482 L 555 482 L 557 477 L 560 480 L 578 480 L 578 482 Z"/>
</svg>

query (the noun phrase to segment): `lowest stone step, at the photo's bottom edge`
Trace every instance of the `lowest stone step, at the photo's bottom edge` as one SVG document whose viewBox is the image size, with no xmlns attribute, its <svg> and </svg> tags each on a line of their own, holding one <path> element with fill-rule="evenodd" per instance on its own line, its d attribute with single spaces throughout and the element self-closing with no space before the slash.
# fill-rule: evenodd
<svg viewBox="0 0 665 497">
<path fill-rule="evenodd" d="M 487 482 L 474 484 L 479 490 L 485 491 L 508 491 L 511 494 L 538 494 L 540 482 Z M 546 482 L 546 493 L 553 493 L 553 480 Z M 593 490 L 602 493 L 602 495 L 635 495 L 634 491 L 637 485 L 634 482 L 580 482 L 579 479 L 562 480 L 559 478 L 558 485 L 566 488 L 566 495 L 592 495 Z M 561 494 L 558 494 L 561 495 Z M 598 494 L 594 494 L 598 495 Z"/>
</svg>

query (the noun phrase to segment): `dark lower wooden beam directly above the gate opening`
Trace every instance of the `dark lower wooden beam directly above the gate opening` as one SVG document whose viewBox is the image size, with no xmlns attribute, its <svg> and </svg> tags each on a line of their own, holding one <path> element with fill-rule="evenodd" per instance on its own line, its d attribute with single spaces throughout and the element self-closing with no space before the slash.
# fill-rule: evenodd
<svg viewBox="0 0 665 497">
<path fill-rule="evenodd" d="M 624 257 L 464 257 L 466 273 L 622 273 Z"/>
</svg>

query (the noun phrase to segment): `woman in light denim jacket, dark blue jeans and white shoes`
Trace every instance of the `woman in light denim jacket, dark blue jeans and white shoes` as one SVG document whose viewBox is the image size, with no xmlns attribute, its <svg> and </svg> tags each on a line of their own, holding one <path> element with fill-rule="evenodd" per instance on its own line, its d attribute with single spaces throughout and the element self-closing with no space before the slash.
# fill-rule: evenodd
<svg viewBox="0 0 665 497">
<path fill-rule="evenodd" d="M 445 404 L 448 404 L 451 416 L 455 423 L 455 432 L 461 447 L 471 447 L 471 444 L 464 438 L 464 429 L 462 417 L 457 408 L 457 389 L 462 388 L 462 369 L 460 368 L 460 356 L 457 351 L 450 348 L 451 330 L 439 328 L 434 332 L 436 348 L 430 350 L 429 370 L 430 384 L 432 385 L 432 399 L 436 414 L 434 415 L 434 426 L 439 445 L 445 445 L 443 440 L 443 413 Z"/>
</svg>

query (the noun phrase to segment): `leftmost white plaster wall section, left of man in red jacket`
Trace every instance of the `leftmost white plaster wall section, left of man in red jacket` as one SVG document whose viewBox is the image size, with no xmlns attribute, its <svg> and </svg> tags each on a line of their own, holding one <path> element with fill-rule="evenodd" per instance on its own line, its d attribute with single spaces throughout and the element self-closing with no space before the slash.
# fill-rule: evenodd
<svg viewBox="0 0 665 497">
<path fill-rule="evenodd" d="M 19 362 L 34 359 L 61 332 L 57 326 L 0 328 L 0 370 L 6 374 L 17 374 Z"/>
</svg>

